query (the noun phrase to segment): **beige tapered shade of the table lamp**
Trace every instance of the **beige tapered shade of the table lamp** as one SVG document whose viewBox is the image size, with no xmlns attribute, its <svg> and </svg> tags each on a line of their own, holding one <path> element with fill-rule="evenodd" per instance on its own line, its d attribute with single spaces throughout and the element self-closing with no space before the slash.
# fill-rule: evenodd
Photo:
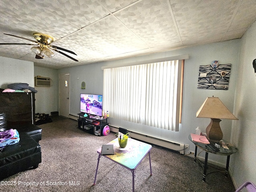
<svg viewBox="0 0 256 192">
<path fill-rule="evenodd" d="M 238 120 L 218 97 L 208 97 L 196 112 L 196 117 Z"/>
</svg>

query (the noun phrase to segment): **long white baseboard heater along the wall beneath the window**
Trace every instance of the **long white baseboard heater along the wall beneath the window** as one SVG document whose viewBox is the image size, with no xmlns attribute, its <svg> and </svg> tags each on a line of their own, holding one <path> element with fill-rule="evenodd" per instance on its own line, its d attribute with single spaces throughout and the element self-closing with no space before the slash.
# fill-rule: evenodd
<svg viewBox="0 0 256 192">
<path fill-rule="evenodd" d="M 69 114 L 69 118 L 77 120 L 79 117 L 76 115 L 73 115 L 73 114 Z M 110 131 L 112 131 L 114 133 L 118 133 L 118 127 L 109 125 L 109 128 L 110 128 Z M 138 139 L 138 140 L 141 140 L 141 141 L 144 141 L 147 143 L 151 143 L 151 144 L 154 144 L 157 146 L 161 146 L 161 147 L 167 148 L 169 150 L 177 151 L 180 154 L 184 154 L 184 150 L 185 150 L 184 144 L 164 140 L 164 139 L 153 137 L 153 136 L 148 136 L 146 134 L 141 134 L 141 133 L 131 131 L 131 130 L 128 130 L 128 132 L 130 133 L 131 138 Z"/>
</svg>

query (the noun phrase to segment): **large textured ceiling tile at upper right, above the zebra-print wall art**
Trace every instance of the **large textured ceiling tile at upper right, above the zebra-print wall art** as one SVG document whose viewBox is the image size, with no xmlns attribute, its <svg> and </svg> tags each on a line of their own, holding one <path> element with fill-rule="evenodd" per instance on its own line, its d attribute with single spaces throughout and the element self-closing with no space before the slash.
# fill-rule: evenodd
<svg viewBox="0 0 256 192">
<path fill-rule="evenodd" d="M 171 6 L 182 41 L 224 33 L 239 0 L 172 0 Z"/>
</svg>

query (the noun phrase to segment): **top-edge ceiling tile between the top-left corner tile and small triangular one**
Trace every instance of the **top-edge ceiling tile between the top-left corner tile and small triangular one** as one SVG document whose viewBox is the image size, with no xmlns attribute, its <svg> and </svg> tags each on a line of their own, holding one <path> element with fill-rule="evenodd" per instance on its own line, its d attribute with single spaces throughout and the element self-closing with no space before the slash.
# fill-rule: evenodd
<svg viewBox="0 0 256 192">
<path fill-rule="evenodd" d="M 97 0 L 35 0 L 41 8 L 82 28 L 109 13 Z"/>
</svg>

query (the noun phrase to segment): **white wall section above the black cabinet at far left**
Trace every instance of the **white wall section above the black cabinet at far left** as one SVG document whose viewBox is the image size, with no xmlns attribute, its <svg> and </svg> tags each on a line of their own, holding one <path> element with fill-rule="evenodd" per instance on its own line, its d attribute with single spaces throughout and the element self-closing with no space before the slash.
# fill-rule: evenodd
<svg viewBox="0 0 256 192">
<path fill-rule="evenodd" d="M 8 84 L 27 83 L 34 87 L 34 63 L 0 56 L 0 88 Z"/>
</svg>

